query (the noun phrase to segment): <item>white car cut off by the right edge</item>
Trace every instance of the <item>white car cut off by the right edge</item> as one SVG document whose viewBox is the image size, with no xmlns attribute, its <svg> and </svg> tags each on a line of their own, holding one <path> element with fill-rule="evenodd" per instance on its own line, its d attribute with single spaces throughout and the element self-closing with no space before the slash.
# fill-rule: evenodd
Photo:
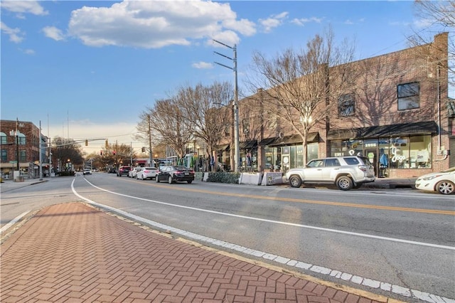
<svg viewBox="0 0 455 303">
<path fill-rule="evenodd" d="M 445 171 L 420 176 L 415 181 L 415 188 L 423 191 L 436 191 L 443 195 L 455 193 L 455 166 Z"/>
</svg>

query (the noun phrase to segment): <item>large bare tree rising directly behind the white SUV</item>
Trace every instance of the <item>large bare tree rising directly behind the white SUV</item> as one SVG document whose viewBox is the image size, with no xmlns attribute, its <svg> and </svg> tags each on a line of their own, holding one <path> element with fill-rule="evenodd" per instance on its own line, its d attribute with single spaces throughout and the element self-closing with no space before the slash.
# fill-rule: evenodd
<svg viewBox="0 0 455 303">
<path fill-rule="evenodd" d="M 326 121 L 331 105 L 338 96 L 348 92 L 355 75 L 348 70 L 353 59 L 353 43 L 344 41 L 334 45 L 333 31 L 316 35 L 306 49 L 284 50 L 275 58 L 268 59 L 259 52 L 253 60 L 258 79 L 251 80 L 254 90 L 262 90 L 264 112 L 274 112 L 274 119 L 287 124 L 290 130 L 301 135 L 304 142 L 306 163 L 306 139 L 316 124 Z M 338 66 L 336 73 L 329 68 Z"/>
</svg>

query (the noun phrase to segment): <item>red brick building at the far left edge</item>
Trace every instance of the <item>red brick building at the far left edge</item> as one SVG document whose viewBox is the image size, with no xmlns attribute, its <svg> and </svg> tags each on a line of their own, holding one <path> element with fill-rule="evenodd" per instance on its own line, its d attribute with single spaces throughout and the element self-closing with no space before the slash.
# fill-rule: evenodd
<svg viewBox="0 0 455 303">
<path fill-rule="evenodd" d="M 13 178 L 18 169 L 29 178 L 39 177 L 40 142 L 48 145 L 48 138 L 32 122 L 0 120 L 1 176 Z M 41 149 L 43 171 L 48 171 L 48 150 Z"/>
</svg>

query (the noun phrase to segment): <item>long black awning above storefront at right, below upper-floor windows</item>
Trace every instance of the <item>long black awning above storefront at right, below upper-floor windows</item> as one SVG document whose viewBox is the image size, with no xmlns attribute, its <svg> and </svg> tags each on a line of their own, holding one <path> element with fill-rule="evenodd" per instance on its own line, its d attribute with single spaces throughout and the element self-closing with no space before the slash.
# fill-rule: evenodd
<svg viewBox="0 0 455 303">
<path fill-rule="evenodd" d="M 398 137 L 410 134 L 436 134 L 436 122 L 412 122 L 403 124 L 390 124 L 375 127 L 360 127 L 356 129 L 335 129 L 327 134 L 328 140 L 360 139 L 371 137 Z"/>
</svg>

